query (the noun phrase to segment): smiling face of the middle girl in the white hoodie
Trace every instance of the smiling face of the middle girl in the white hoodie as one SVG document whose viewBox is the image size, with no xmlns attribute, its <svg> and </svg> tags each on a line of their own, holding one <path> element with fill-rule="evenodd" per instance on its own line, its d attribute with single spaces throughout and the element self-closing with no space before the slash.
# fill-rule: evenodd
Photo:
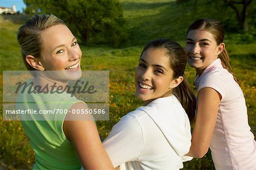
<svg viewBox="0 0 256 170">
<path fill-rule="evenodd" d="M 135 95 L 147 105 L 171 94 L 173 71 L 170 59 L 161 48 L 148 48 L 141 55 L 135 72 Z"/>
</svg>

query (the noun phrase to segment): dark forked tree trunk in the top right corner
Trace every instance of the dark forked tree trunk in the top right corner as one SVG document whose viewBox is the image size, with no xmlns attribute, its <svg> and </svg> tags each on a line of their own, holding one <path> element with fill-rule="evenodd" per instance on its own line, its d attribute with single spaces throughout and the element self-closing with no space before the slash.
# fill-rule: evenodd
<svg viewBox="0 0 256 170">
<path fill-rule="evenodd" d="M 231 7 L 234 11 L 236 11 L 237 20 L 239 23 L 239 26 L 242 30 L 248 31 L 248 24 L 246 22 L 246 13 L 247 13 L 247 7 L 250 5 L 250 3 L 253 0 L 222 0 L 225 2 L 226 6 Z M 241 7 L 239 7 L 242 5 Z"/>
</svg>

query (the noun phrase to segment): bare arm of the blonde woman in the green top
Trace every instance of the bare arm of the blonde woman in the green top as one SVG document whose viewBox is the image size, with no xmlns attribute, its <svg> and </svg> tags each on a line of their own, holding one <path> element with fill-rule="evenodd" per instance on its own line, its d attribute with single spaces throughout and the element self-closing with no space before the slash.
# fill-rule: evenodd
<svg viewBox="0 0 256 170">
<path fill-rule="evenodd" d="M 88 109 L 84 103 L 75 103 L 72 109 Z M 80 112 L 81 113 L 81 112 Z M 76 148 L 77 155 L 85 169 L 114 169 L 113 165 L 102 146 L 97 127 L 90 114 L 84 114 L 86 120 L 70 120 L 72 113 L 67 114 L 63 123 L 65 136 Z"/>
</svg>

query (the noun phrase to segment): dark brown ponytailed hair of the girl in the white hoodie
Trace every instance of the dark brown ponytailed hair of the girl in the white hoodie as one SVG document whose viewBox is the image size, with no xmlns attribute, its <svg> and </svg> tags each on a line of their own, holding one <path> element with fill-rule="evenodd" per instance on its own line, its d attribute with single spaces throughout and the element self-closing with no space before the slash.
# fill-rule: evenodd
<svg viewBox="0 0 256 170">
<path fill-rule="evenodd" d="M 142 53 L 148 48 L 163 49 L 166 52 L 166 55 L 169 57 L 170 67 L 172 71 L 174 71 L 173 77 L 183 77 L 183 81 L 172 90 L 172 94 L 179 99 L 181 105 L 188 115 L 189 121 L 192 122 L 195 118 L 196 98 L 184 74 L 187 64 L 187 56 L 185 55 L 184 49 L 180 46 L 180 44 L 169 39 L 153 40 L 144 47 Z"/>
</svg>

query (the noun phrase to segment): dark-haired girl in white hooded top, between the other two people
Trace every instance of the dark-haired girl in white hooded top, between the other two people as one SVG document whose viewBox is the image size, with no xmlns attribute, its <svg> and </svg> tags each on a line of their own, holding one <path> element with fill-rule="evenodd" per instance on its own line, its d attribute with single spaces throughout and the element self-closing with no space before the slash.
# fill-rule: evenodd
<svg viewBox="0 0 256 170">
<path fill-rule="evenodd" d="M 135 95 L 144 106 L 122 117 L 104 141 L 114 167 L 180 169 L 192 159 L 184 156 L 191 146 L 189 119 L 196 107 L 184 76 L 186 63 L 184 49 L 171 40 L 144 47 L 135 72 Z"/>
</svg>

